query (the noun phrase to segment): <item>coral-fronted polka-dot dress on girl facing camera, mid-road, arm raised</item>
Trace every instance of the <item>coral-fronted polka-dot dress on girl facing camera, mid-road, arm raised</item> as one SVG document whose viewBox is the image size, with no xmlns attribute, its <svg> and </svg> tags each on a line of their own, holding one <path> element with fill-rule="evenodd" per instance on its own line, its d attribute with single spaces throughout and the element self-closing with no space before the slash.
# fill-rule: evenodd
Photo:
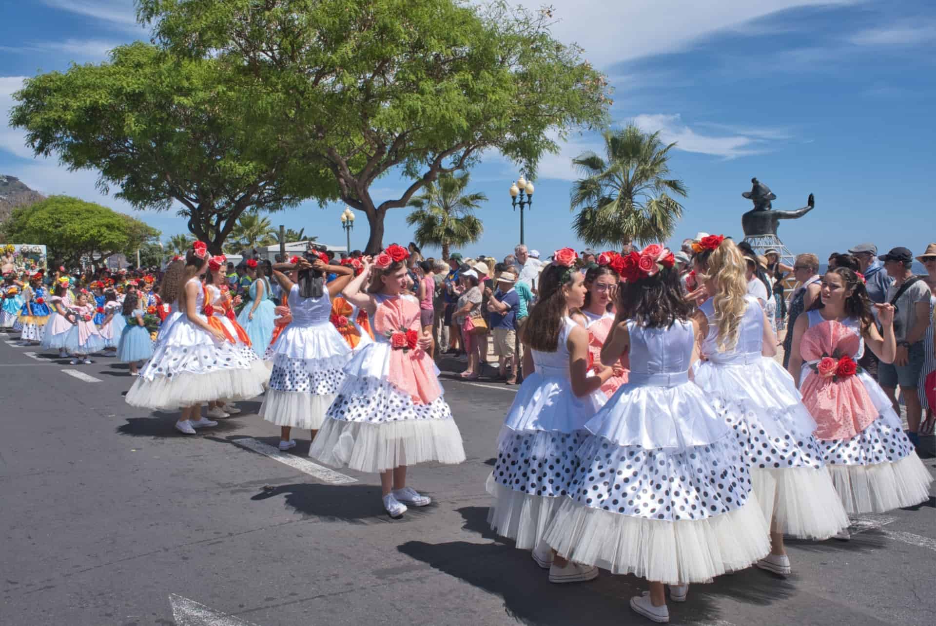
<svg viewBox="0 0 936 626">
<path fill-rule="evenodd" d="M 359 472 L 426 461 L 461 463 L 461 432 L 438 371 L 422 348 L 413 347 L 413 333 L 420 333 L 417 298 L 374 298 L 374 341 L 358 345 L 344 367 L 344 383 L 309 456 Z"/>
</svg>

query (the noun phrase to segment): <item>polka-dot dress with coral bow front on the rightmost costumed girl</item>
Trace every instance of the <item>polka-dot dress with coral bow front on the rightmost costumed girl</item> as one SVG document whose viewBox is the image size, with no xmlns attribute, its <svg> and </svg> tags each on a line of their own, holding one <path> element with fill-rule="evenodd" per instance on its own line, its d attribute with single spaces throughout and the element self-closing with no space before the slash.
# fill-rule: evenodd
<svg viewBox="0 0 936 626">
<path fill-rule="evenodd" d="M 860 322 L 841 322 L 810 311 L 803 333 L 800 392 L 816 420 L 815 437 L 845 510 L 883 513 L 929 499 L 932 476 L 916 456 L 884 390 L 866 372 L 824 376 L 815 367 L 823 357 L 864 354 Z"/>
</svg>

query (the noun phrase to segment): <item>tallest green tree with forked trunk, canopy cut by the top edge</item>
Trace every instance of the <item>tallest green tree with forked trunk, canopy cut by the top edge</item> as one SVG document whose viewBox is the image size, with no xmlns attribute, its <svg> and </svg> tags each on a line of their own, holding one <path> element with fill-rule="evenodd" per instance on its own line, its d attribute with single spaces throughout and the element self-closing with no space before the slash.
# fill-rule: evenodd
<svg viewBox="0 0 936 626">
<path fill-rule="evenodd" d="M 548 9 L 459 0 L 139 0 L 167 50 L 227 64 L 282 105 L 310 165 L 383 246 L 387 211 L 499 152 L 534 172 L 557 139 L 606 122 L 607 80 L 550 35 Z M 402 175 L 398 197 L 373 182 Z"/>
</svg>

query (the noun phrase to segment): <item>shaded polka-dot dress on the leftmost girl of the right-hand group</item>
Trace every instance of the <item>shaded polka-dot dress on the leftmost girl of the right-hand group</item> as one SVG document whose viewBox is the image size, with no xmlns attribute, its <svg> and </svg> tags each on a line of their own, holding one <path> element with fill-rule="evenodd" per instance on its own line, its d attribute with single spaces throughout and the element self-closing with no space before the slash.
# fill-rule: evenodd
<svg viewBox="0 0 936 626">
<path fill-rule="evenodd" d="M 585 422 L 606 400 L 600 389 L 584 398 L 572 392 L 566 343 L 574 327 L 566 317 L 555 352 L 533 351 L 536 369 L 524 378 L 497 442 L 488 523 L 520 549 L 539 544 L 569 494 Z"/>
</svg>

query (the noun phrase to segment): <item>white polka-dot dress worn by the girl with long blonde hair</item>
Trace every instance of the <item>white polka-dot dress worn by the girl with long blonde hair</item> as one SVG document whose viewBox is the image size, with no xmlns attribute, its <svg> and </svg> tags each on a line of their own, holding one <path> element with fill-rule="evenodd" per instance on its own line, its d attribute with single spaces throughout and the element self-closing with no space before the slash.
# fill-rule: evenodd
<svg viewBox="0 0 936 626">
<path fill-rule="evenodd" d="M 848 526 L 819 444 L 815 420 L 803 406 L 793 377 L 774 359 L 761 356 L 764 315 L 747 297 L 739 341 L 720 350 L 712 300 L 700 310 L 709 319 L 702 342 L 707 358 L 695 367 L 695 384 L 708 394 L 715 412 L 734 430 L 754 491 L 772 518 L 772 529 L 804 539 L 824 540 Z"/>
</svg>

